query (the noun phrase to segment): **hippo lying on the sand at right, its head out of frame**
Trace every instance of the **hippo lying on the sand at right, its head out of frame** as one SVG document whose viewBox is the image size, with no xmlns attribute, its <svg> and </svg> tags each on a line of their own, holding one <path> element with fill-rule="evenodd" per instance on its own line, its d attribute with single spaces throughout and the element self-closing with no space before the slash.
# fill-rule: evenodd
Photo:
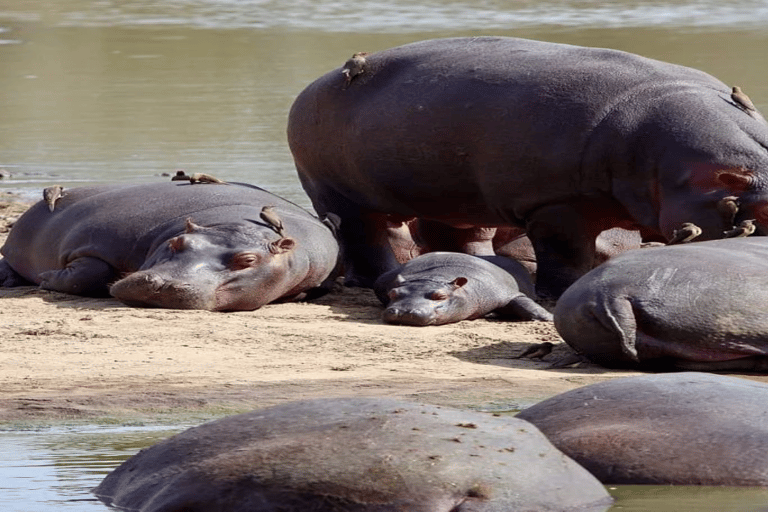
<svg viewBox="0 0 768 512">
<path fill-rule="evenodd" d="M 555 327 L 610 368 L 768 371 L 768 238 L 629 251 L 576 281 Z"/>
</svg>

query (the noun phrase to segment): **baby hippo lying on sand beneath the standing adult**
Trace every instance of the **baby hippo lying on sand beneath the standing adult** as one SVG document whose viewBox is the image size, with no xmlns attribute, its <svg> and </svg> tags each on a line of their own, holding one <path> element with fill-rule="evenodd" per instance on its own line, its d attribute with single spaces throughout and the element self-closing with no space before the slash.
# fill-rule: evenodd
<svg viewBox="0 0 768 512">
<path fill-rule="evenodd" d="M 392 324 L 442 325 L 492 311 L 520 320 L 552 320 L 533 301 L 533 281 L 520 263 L 504 256 L 431 252 L 376 280 L 376 296 Z"/>
</svg>

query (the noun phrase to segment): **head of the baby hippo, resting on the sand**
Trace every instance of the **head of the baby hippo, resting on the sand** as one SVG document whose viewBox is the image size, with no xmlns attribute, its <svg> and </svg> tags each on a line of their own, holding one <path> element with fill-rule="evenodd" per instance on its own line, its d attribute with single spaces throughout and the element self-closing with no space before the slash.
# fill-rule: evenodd
<svg viewBox="0 0 768 512">
<path fill-rule="evenodd" d="M 471 317 L 466 277 L 453 281 L 419 279 L 406 281 L 398 275 L 389 291 L 382 318 L 390 324 L 442 325 Z"/>
</svg>

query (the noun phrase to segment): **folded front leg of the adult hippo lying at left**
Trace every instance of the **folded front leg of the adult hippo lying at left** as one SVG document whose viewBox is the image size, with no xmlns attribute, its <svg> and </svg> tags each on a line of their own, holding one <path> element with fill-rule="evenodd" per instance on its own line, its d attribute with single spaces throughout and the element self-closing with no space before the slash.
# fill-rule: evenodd
<svg viewBox="0 0 768 512">
<path fill-rule="evenodd" d="M 91 256 L 72 260 L 61 270 L 41 273 L 40 288 L 74 295 L 109 296 L 109 283 L 117 273 L 106 261 Z"/>
</svg>

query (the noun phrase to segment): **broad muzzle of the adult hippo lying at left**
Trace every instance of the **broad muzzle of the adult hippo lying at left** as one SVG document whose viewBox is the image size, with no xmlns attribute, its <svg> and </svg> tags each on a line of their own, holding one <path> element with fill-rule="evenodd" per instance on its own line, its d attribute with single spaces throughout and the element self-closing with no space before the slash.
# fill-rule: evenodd
<svg viewBox="0 0 768 512">
<path fill-rule="evenodd" d="M 212 294 L 198 285 L 164 279 L 148 272 L 134 272 L 114 283 L 109 293 L 128 306 L 168 309 L 213 309 Z"/>
</svg>

